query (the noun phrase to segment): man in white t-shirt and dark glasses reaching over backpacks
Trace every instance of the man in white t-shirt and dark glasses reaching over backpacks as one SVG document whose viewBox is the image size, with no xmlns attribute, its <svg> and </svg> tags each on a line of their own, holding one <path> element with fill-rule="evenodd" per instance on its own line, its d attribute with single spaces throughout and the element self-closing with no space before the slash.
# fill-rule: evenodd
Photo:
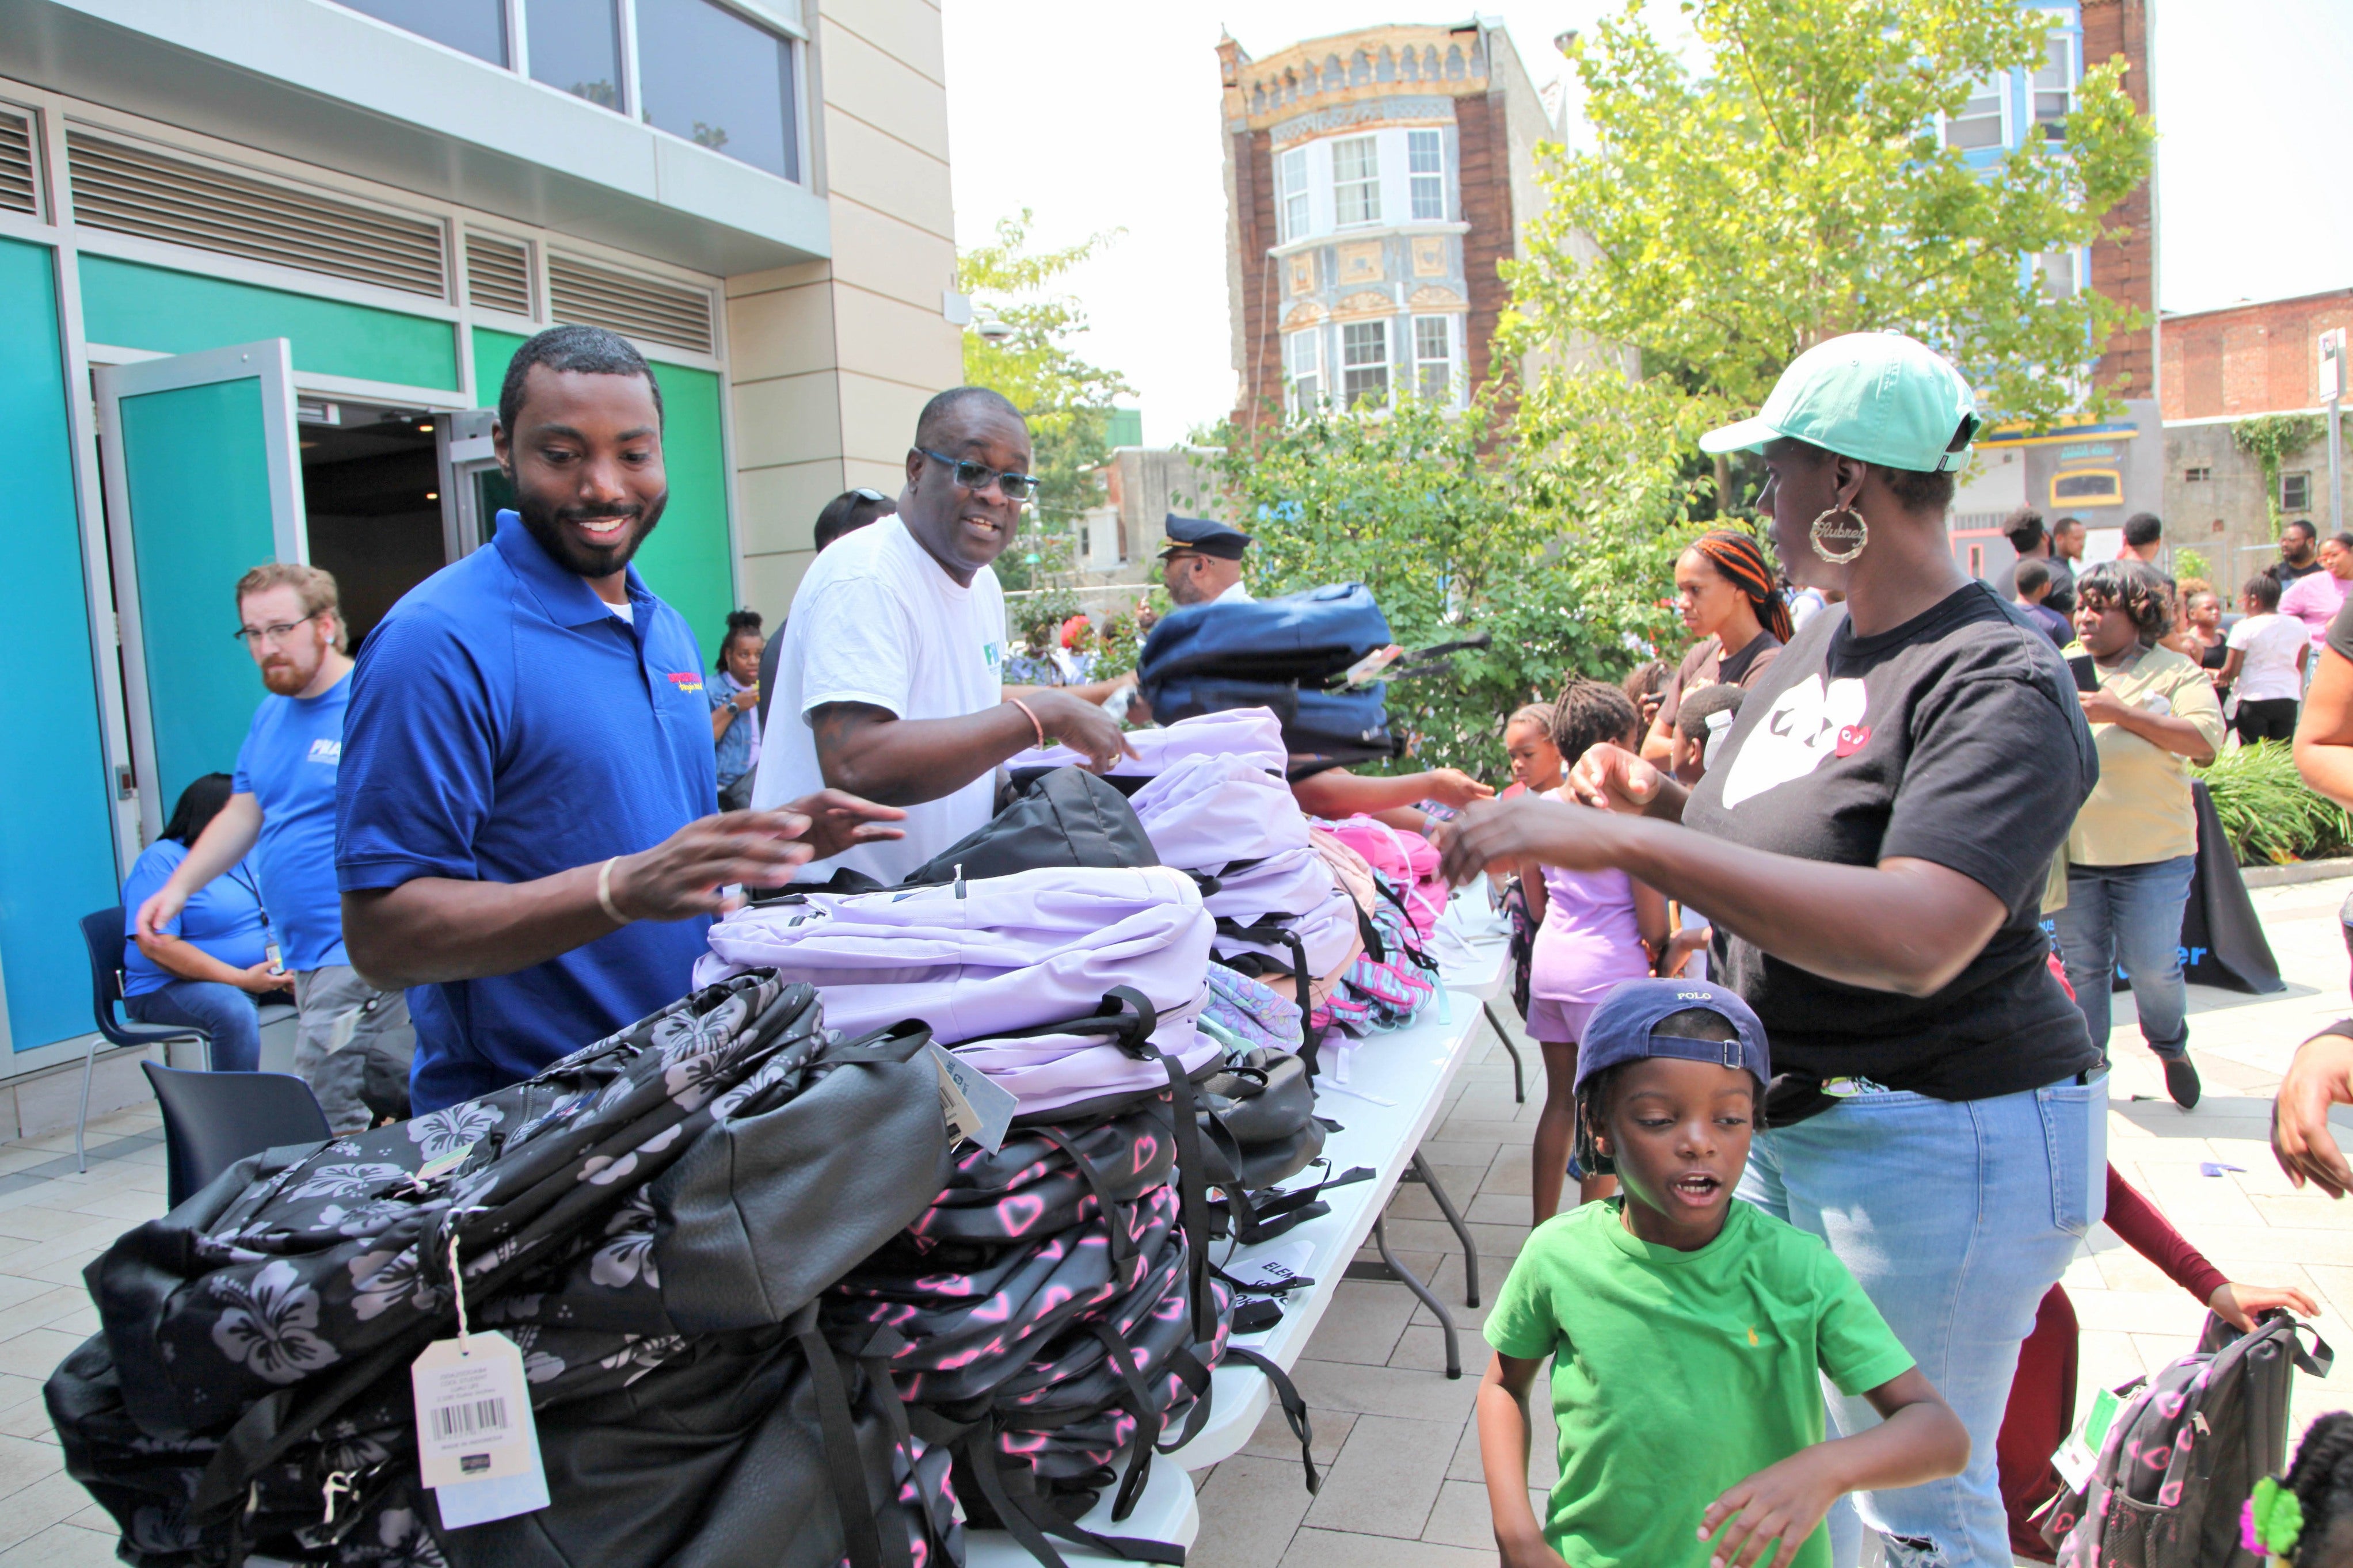
<svg viewBox="0 0 2353 1568">
<path fill-rule="evenodd" d="M 906 837 L 798 867 L 901 882 L 984 825 L 995 771 L 1056 738 L 1108 769 L 1120 726 L 1075 691 L 1005 691 L 1005 595 L 991 562 L 1035 494 L 1021 411 L 960 386 L 925 404 L 899 515 L 845 536 L 793 592 L 753 809 L 838 788 L 906 806 Z"/>
</svg>

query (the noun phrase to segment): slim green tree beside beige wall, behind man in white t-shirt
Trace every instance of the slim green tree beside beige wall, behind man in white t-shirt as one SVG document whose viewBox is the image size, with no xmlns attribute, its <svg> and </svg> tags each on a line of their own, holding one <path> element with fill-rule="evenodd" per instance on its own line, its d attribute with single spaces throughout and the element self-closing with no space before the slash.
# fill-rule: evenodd
<svg viewBox="0 0 2353 1568">
<path fill-rule="evenodd" d="M 1007 588 L 1028 588 L 1073 567 L 1078 517 L 1094 505 L 1094 468 L 1111 456 L 1111 404 L 1134 397 L 1125 376 L 1078 355 L 1073 343 L 1087 331 L 1087 313 L 1054 287 L 1118 233 L 1031 252 L 1031 223 L 1026 207 L 1016 219 L 998 219 L 995 244 L 955 259 L 955 287 L 979 313 L 1012 329 L 995 343 L 979 331 L 965 334 L 965 381 L 1005 393 L 1028 416 L 1031 473 L 1042 480 L 1021 538 L 998 559 Z"/>
</svg>

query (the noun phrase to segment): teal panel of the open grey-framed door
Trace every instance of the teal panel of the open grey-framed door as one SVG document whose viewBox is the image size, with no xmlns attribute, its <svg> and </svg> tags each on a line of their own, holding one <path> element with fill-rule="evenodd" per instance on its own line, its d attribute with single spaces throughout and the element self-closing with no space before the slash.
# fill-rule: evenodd
<svg viewBox="0 0 2353 1568">
<path fill-rule="evenodd" d="M 278 559 L 261 383 L 209 381 L 122 400 L 122 482 L 139 569 L 148 715 L 165 816 L 202 773 L 228 773 L 261 701 L 231 637 L 233 590 Z"/>
</svg>

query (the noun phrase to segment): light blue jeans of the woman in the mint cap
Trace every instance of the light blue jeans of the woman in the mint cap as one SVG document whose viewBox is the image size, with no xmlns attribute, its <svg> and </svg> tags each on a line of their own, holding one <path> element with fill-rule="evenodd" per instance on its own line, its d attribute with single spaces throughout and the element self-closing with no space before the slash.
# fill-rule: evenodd
<svg viewBox="0 0 2353 1568">
<path fill-rule="evenodd" d="M 1739 1194 L 1831 1244 L 1969 1429 L 1958 1476 L 1831 1512 L 1840 1568 L 1859 1523 L 1889 1563 L 2009 1568 L 1993 1439 L 2035 1307 L 2108 1204 L 2106 1164 L 2106 1077 L 1993 1100 L 1864 1093 L 1755 1135 Z M 1824 1396 L 1833 1436 L 1880 1420 L 1868 1399 Z"/>
</svg>

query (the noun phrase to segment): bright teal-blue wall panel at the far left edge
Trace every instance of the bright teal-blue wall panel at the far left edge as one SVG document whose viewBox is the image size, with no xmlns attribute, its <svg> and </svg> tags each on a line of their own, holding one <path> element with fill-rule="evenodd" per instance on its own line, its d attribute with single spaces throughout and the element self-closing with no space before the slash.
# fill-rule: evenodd
<svg viewBox="0 0 2353 1568">
<path fill-rule="evenodd" d="M 16 1051 L 89 1030 L 75 919 L 120 898 L 113 780 L 89 654 L 56 266 L 0 240 L 0 428 L 9 433 L 9 621 L 35 656 L 0 682 L 0 985 Z"/>
</svg>

